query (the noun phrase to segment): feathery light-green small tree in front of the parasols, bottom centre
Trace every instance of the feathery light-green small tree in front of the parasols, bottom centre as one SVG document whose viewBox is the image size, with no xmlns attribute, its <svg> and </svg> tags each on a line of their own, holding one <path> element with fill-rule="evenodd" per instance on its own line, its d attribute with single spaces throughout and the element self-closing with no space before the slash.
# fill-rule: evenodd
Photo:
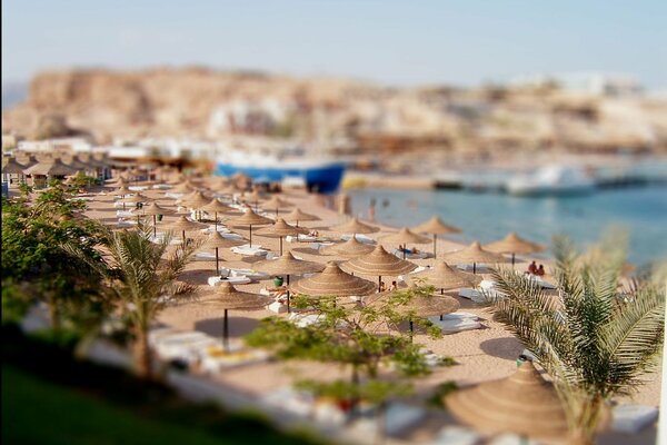
<svg viewBox="0 0 667 445">
<path fill-rule="evenodd" d="M 349 380 L 300 380 L 297 385 L 316 394 L 348 400 L 352 407 L 359 399 L 381 405 L 387 398 L 410 390 L 406 382 L 380 379 L 382 363 L 394 365 L 402 377 L 429 373 L 420 346 L 412 343 L 411 334 L 399 330 L 398 325 L 412 319 L 431 337 L 440 336 L 440 330 L 427 319 L 416 317 L 414 312 L 399 310 L 414 297 L 430 296 L 432 290 L 431 287 L 410 288 L 368 306 L 341 304 L 335 297 L 297 296 L 292 299 L 293 306 L 317 314 L 317 324 L 298 327 L 288 320 L 269 317 L 246 336 L 246 342 L 250 346 L 269 348 L 282 359 L 337 363 L 348 367 Z"/>
</svg>

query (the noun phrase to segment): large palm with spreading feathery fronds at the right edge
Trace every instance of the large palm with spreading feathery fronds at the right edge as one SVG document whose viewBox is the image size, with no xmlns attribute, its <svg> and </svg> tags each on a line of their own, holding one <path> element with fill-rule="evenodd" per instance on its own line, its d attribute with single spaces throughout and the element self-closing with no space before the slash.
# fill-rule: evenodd
<svg viewBox="0 0 667 445">
<path fill-rule="evenodd" d="M 603 426 L 610 398 L 635 390 L 640 376 L 656 365 L 665 295 L 650 280 L 623 286 L 625 255 L 618 248 L 603 246 L 596 255 L 579 255 L 560 237 L 554 251 L 556 296 L 499 269 L 494 273 L 498 294 L 489 301 L 496 318 L 554 378 L 573 441 L 587 444 Z"/>
</svg>

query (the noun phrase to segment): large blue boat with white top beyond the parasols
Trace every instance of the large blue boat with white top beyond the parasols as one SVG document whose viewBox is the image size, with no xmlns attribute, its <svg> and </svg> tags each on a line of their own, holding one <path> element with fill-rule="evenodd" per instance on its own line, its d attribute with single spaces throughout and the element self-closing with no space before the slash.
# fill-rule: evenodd
<svg viewBox="0 0 667 445">
<path fill-rule="evenodd" d="M 336 160 L 291 159 L 276 160 L 275 165 L 252 165 L 245 159 L 235 162 L 231 159 L 218 160 L 216 174 L 231 176 L 238 172 L 252 179 L 282 182 L 286 179 L 299 178 L 309 191 L 320 194 L 336 192 L 340 186 L 346 164 Z M 272 162 L 271 162 L 272 164 Z"/>
</svg>

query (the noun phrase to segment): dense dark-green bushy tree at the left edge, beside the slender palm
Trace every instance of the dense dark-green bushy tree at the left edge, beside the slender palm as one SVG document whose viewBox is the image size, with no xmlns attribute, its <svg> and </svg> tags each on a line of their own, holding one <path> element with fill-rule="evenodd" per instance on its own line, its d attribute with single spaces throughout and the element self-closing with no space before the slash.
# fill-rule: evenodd
<svg viewBox="0 0 667 445">
<path fill-rule="evenodd" d="M 79 214 L 83 201 L 67 200 L 59 181 L 51 186 L 32 201 L 26 185 L 18 197 L 2 198 L 3 320 L 43 301 L 54 329 L 67 323 L 84 335 L 106 313 L 89 266 L 100 259 L 94 246 L 102 228 Z M 76 256 L 63 248 L 70 244 L 78 246 Z"/>
</svg>

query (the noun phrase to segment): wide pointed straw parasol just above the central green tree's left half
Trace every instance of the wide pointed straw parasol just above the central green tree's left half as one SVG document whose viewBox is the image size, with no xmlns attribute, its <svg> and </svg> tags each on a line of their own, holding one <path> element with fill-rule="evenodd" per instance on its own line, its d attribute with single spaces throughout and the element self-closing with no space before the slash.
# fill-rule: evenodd
<svg viewBox="0 0 667 445">
<path fill-rule="evenodd" d="M 310 297 L 364 296 L 372 293 L 375 288 L 376 286 L 372 281 L 346 274 L 334 261 L 327 263 L 321 274 L 310 278 L 301 278 L 290 287 L 293 293 Z"/>
</svg>

